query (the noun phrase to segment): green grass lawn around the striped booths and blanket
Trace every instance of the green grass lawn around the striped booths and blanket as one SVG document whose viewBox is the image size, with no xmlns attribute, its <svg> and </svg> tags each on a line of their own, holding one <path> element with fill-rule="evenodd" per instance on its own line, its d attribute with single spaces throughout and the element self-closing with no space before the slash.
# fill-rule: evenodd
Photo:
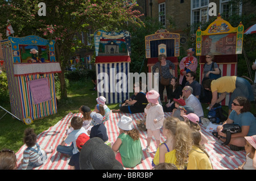
<svg viewBox="0 0 256 181">
<path fill-rule="evenodd" d="M 92 87 L 93 84 L 90 80 L 84 82 L 69 82 L 68 99 L 59 102 L 57 113 L 55 115 L 44 117 L 43 119 L 34 120 L 34 123 L 31 125 L 26 125 L 17 119 L 13 119 L 13 117 L 7 113 L 0 120 L 0 150 L 8 148 L 17 152 L 23 145 L 23 133 L 24 129 L 27 127 L 35 129 L 35 133 L 39 134 L 55 125 L 69 112 L 79 112 L 81 105 L 89 106 L 91 110 L 94 110 L 94 107 L 97 104 L 97 92 L 90 91 Z M 57 96 L 57 98 L 59 97 Z M 10 103 L 0 105 L 8 111 L 11 110 Z M 208 110 L 206 110 L 206 108 L 208 107 L 208 104 L 202 104 L 202 106 L 204 109 L 204 115 L 207 116 Z M 110 110 L 117 109 L 119 107 L 119 103 L 108 104 L 108 107 Z M 253 108 L 251 112 L 256 113 L 255 106 L 251 105 L 251 107 Z M 228 112 L 227 106 L 223 106 L 223 108 Z M 5 111 L 0 109 L 0 117 L 2 117 L 4 113 Z"/>
</svg>

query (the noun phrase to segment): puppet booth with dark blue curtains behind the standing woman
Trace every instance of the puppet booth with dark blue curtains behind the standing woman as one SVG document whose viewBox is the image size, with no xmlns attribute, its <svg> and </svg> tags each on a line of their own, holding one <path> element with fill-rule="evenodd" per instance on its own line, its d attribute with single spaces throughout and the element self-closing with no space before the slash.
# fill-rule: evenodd
<svg viewBox="0 0 256 181">
<path fill-rule="evenodd" d="M 158 62 L 159 54 L 165 54 L 166 60 L 170 60 L 175 65 L 175 74 L 173 74 L 172 69 L 170 68 L 170 73 L 177 77 L 177 68 L 179 65 L 177 57 L 180 56 L 180 34 L 170 33 L 167 30 L 158 30 L 152 35 L 145 36 L 145 48 L 146 48 L 146 58 L 148 73 L 152 73 L 152 66 Z M 159 70 L 156 69 L 156 72 L 159 73 Z M 154 76 L 151 76 L 149 79 L 152 80 L 148 82 L 150 87 L 154 87 Z M 167 93 L 164 89 L 164 101 L 167 102 Z"/>
</svg>

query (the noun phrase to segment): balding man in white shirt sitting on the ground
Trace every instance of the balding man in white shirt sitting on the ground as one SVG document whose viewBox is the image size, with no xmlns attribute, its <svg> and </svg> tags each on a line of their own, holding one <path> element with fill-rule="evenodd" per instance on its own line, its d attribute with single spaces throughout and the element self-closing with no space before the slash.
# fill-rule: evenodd
<svg viewBox="0 0 256 181">
<path fill-rule="evenodd" d="M 191 106 L 194 109 L 194 113 L 198 117 L 204 116 L 204 111 L 199 99 L 192 94 L 193 88 L 191 86 L 185 86 L 182 90 L 182 95 L 185 97 L 185 103 L 187 106 Z"/>
</svg>

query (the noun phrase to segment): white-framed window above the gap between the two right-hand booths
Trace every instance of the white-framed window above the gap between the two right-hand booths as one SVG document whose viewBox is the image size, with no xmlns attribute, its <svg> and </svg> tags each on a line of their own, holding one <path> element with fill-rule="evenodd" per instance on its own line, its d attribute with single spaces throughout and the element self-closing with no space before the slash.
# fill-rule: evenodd
<svg viewBox="0 0 256 181">
<path fill-rule="evenodd" d="M 209 0 L 191 0 L 191 33 L 195 34 L 197 28 L 208 22 Z"/>
</svg>

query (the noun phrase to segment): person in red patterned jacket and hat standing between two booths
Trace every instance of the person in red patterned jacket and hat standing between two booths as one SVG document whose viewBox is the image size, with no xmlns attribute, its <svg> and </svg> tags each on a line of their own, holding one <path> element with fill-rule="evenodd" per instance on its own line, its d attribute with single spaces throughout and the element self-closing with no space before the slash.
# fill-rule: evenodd
<svg viewBox="0 0 256 181">
<path fill-rule="evenodd" d="M 187 82 L 186 80 L 186 75 L 189 71 L 194 71 L 196 72 L 197 68 L 197 58 L 193 56 L 195 50 L 193 48 L 189 48 L 187 50 L 187 57 L 184 57 L 181 59 L 179 67 L 180 67 L 180 85 L 182 87 L 185 86 L 185 83 Z"/>
</svg>

